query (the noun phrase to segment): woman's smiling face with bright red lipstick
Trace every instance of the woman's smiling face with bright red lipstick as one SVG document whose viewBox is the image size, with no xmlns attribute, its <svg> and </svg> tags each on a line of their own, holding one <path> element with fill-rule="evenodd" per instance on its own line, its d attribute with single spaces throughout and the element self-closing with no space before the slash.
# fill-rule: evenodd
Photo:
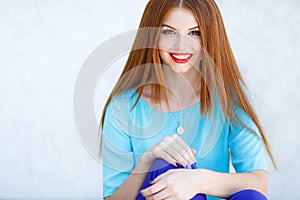
<svg viewBox="0 0 300 200">
<path fill-rule="evenodd" d="M 162 23 L 158 48 L 163 64 L 178 73 L 199 66 L 202 58 L 200 31 L 190 10 L 173 8 L 167 13 Z"/>
</svg>

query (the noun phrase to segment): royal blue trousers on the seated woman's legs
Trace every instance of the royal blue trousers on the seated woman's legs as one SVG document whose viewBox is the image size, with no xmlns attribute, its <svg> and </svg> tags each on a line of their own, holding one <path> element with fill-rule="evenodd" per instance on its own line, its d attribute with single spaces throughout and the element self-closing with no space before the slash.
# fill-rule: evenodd
<svg viewBox="0 0 300 200">
<path fill-rule="evenodd" d="M 150 181 L 154 180 L 160 174 L 163 174 L 170 169 L 176 169 L 176 168 L 182 168 L 182 167 L 181 166 L 175 167 L 162 159 L 155 160 L 145 178 L 141 190 L 151 186 Z M 144 199 L 145 198 L 143 197 L 143 195 L 139 192 L 137 196 L 137 200 L 144 200 Z M 197 194 L 192 198 L 192 200 L 206 200 L 206 195 Z M 263 194 L 255 190 L 242 190 L 229 197 L 229 200 L 267 200 L 267 198 Z"/>
</svg>

